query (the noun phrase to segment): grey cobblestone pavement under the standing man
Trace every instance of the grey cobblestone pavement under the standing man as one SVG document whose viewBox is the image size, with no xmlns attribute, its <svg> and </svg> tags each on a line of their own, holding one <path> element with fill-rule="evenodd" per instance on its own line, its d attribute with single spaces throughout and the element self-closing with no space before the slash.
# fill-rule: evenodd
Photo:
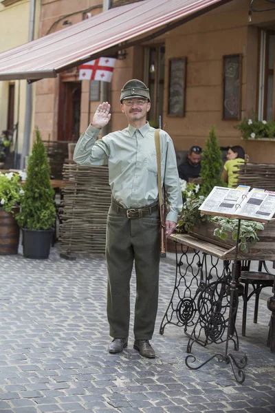
<svg viewBox="0 0 275 413">
<path fill-rule="evenodd" d="M 248 306 L 248 337 L 240 337 L 239 352 L 248 355 L 248 366 L 241 385 L 217 359 L 189 370 L 182 328 L 169 324 L 159 335 L 175 282 L 173 255 L 161 263 L 155 359 L 133 350 L 132 330 L 123 353 L 107 352 L 104 259 L 67 261 L 52 248 L 49 260 L 1 256 L 0 268 L 0 413 L 275 412 L 266 300 L 260 300 L 257 325 L 253 303 Z M 134 276 L 131 286 L 134 295 Z M 199 363 L 222 352 L 214 344 L 195 344 L 193 351 Z"/>
</svg>

